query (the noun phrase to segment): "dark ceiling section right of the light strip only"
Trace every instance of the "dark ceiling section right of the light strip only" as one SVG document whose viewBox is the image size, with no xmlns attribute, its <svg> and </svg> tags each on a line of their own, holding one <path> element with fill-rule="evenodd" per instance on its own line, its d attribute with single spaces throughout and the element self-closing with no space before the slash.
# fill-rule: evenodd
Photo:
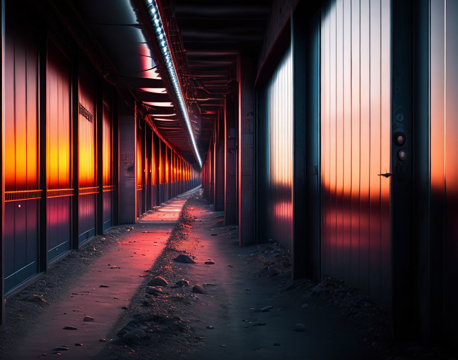
<svg viewBox="0 0 458 360">
<path fill-rule="evenodd" d="M 208 94 L 207 100 L 198 100 L 202 114 L 200 143 L 206 144 L 203 150 L 207 150 L 212 136 L 218 107 L 224 104 L 227 83 L 236 79 L 237 55 L 245 48 L 254 52 L 261 48 L 271 3 L 271 0 L 175 0 L 171 4 L 190 75 L 202 81 L 204 93 Z"/>
</svg>

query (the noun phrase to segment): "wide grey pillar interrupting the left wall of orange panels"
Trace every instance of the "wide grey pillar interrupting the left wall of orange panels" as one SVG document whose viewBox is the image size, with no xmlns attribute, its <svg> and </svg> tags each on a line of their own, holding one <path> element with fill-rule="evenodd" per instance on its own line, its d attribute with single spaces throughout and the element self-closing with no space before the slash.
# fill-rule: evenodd
<svg viewBox="0 0 458 360">
<path fill-rule="evenodd" d="M 135 223 L 136 107 L 119 101 L 119 223 Z"/>
</svg>

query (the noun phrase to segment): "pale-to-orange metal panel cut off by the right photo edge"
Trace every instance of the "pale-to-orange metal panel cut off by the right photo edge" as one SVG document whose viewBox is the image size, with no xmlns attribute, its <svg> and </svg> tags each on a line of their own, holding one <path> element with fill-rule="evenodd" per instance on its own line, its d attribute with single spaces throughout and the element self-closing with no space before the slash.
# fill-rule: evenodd
<svg viewBox="0 0 458 360">
<path fill-rule="evenodd" d="M 443 249 L 446 333 L 458 341 L 458 3 L 430 1 L 430 169 L 431 205 L 437 217 L 432 241 Z M 445 243 L 442 244 L 443 236 Z"/>
</svg>

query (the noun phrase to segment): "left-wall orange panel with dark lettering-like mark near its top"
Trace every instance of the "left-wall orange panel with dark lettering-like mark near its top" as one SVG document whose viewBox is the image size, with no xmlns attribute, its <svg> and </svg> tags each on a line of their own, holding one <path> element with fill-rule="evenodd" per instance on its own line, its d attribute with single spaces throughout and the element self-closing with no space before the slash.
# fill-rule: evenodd
<svg viewBox="0 0 458 360">
<path fill-rule="evenodd" d="M 96 226 L 96 83 L 84 67 L 79 68 L 79 242 L 95 235 Z"/>
</svg>

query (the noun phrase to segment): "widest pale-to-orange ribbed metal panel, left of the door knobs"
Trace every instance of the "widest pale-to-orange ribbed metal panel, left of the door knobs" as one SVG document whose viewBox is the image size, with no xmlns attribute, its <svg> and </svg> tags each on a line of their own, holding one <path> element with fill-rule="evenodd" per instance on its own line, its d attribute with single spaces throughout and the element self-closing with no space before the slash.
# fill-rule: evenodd
<svg viewBox="0 0 458 360">
<path fill-rule="evenodd" d="M 321 28 L 322 272 L 390 306 L 391 3 L 339 0 Z"/>
</svg>

